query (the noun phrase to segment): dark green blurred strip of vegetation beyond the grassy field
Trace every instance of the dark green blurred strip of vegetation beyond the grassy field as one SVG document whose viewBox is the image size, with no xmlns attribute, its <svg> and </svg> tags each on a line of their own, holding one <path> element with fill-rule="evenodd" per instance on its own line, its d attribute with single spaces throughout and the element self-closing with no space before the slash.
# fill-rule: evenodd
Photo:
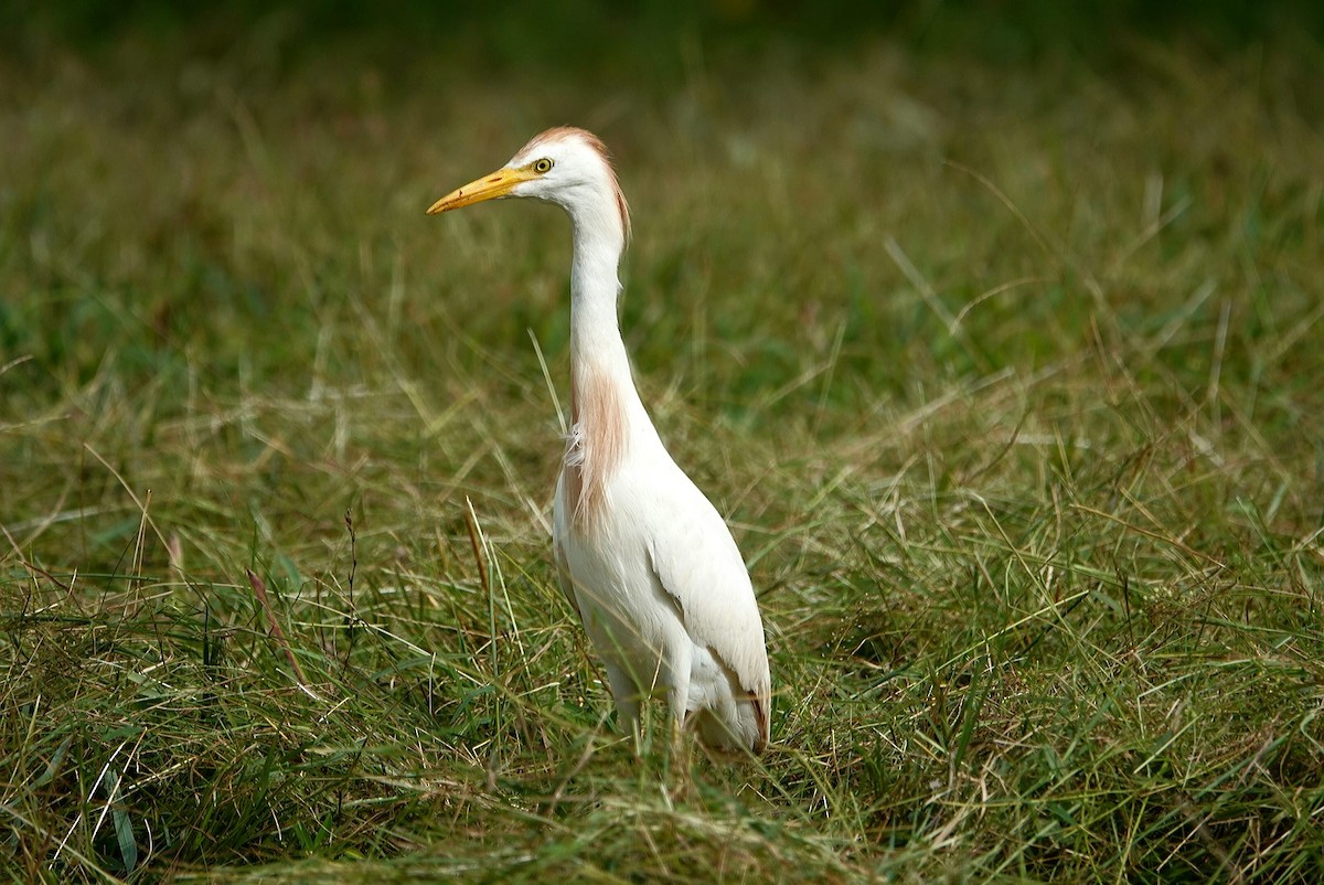
<svg viewBox="0 0 1324 885">
<path fill-rule="evenodd" d="M 481 9 L 446 0 L 388 7 L 367 0 L 295 0 L 277 9 L 257 0 L 207 7 L 167 0 L 16 0 L 3 15 L 7 50 L 17 53 L 12 61 L 26 64 L 56 45 L 97 50 L 136 33 L 201 56 L 233 53 L 236 41 L 249 38 L 265 40 L 267 50 L 278 49 L 286 64 L 332 46 L 352 46 L 360 64 L 387 69 L 432 58 L 441 66 L 489 76 L 510 69 L 560 76 L 614 72 L 621 79 L 658 85 L 683 78 L 686 40 L 714 41 L 723 53 L 780 44 L 812 57 L 888 38 L 920 52 L 1002 64 L 1053 53 L 1115 64 L 1136 38 L 1235 49 L 1291 30 L 1317 34 L 1324 24 L 1319 4 L 1304 0 L 643 0 L 626 7 L 571 0 L 555 9 L 512 0 Z"/>
</svg>

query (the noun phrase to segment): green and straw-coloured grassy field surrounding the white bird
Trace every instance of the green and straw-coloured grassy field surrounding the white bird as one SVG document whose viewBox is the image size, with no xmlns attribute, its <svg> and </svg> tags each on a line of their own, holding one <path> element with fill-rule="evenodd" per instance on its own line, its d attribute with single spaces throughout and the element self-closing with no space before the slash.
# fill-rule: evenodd
<svg viewBox="0 0 1324 885">
<path fill-rule="evenodd" d="M 5 878 L 1324 880 L 1324 49 L 903 24 L 7 54 Z M 422 215 L 556 123 L 757 763 L 621 737 L 556 590 L 564 217 Z"/>
</svg>

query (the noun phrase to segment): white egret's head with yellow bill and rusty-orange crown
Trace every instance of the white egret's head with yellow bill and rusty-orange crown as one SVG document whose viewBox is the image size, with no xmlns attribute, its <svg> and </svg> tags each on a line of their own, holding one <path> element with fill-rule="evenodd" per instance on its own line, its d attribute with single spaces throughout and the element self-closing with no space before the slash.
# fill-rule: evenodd
<svg viewBox="0 0 1324 885">
<path fill-rule="evenodd" d="M 535 135 L 506 166 L 441 197 L 428 215 L 508 196 L 556 203 L 576 224 L 618 224 L 622 237 L 629 236 L 630 211 L 606 148 L 583 129 L 559 126 Z"/>
</svg>

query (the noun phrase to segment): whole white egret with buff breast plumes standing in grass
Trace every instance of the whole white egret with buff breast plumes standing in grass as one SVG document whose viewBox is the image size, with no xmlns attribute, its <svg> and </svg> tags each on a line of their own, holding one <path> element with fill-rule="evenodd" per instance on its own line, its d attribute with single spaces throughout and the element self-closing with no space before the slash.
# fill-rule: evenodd
<svg viewBox="0 0 1324 885">
<path fill-rule="evenodd" d="M 677 729 L 719 750 L 768 746 L 772 677 L 744 559 L 667 453 L 617 325 L 630 215 L 606 150 L 581 129 L 536 135 L 428 215 L 500 197 L 571 217 L 571 413 L 552 518 L 561 590 L 602 657 L 622 725 L 665 690 Z"/>
</svg>

